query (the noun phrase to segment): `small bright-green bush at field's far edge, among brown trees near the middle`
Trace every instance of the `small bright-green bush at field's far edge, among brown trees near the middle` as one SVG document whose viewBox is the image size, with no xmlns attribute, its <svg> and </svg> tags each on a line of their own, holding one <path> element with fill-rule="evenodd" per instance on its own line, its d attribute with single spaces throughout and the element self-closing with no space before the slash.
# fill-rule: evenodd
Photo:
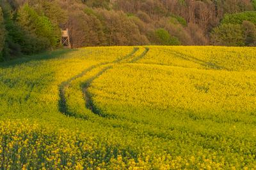
<svg viewBox="0 0 256 170">
<path fill-rule="evenodd" d="M 169 32 L 165 29 L 157 29 L 155 31 L 157 44 L 160 45 L 180 45 L 179 39 L 170 36 Z"/>
</svg>

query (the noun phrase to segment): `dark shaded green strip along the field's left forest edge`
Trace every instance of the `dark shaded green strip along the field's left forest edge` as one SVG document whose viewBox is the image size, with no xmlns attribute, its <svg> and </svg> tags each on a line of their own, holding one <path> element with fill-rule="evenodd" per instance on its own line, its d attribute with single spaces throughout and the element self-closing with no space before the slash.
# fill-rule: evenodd
<svg viewBox="0 0 256 170">
<path fill-rule="evenodd" d="M 54 50 L 54 51 L 49 51 L 49 52 L 44 52 L 44 53 L 38 53 L 35 55 L 28 55 L 21 57 L 19 59 L 13 59 L 7 62 L 0 62 L 0 68 L 7 68 L 7 67 L 12 67 L 16 66 L 19 64 L 24 64 L 26 62 L 31 62 L 31 61 L 40 61 L 40 60 L 48 60 L 48 59 L 56 59 L 59 57 L 63 57 L 67 53 L 77 51 L 76 49 L 59 49 L 59 50 Z"/>
</svg>

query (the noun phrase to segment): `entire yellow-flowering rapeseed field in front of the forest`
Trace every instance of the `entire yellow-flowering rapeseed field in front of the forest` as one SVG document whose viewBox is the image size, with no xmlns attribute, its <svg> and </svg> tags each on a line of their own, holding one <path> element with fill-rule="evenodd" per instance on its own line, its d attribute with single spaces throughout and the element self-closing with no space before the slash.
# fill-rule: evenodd
<svg viewBox="0 0 256 170">
<path fill-rule="evenodd" d="M 0 169 L 256 169 L 256 48 L 116 46 L 0 65 Z"/>
</svg>

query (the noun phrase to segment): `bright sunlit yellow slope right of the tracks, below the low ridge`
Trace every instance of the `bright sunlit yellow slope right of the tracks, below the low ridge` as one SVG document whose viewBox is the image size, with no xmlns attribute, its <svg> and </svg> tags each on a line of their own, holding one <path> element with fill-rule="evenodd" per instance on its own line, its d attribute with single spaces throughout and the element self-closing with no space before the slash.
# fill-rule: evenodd
<svg viewBox="0 0 256 170">
<path fill-rule="evenodd" d="M 104 104 L 102 109 L 113 103 L 122 108 L 183 110 L 198 118 L 215 116 L 220 121 L 245 119 L 245 122 L 256 120 L 255 89 L 255 72 L 143 64 L 115 67 L 95 80 L 90 88 L 93 99 Z"/>
</svg>

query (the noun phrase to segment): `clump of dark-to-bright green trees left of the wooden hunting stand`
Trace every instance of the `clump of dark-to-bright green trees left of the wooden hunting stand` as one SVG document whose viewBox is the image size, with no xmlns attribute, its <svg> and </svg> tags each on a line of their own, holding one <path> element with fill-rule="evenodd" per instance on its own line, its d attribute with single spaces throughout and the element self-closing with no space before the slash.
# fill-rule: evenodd
<svg viewBox="0 0 256 170">
<path fill-rule="evenodd" d="M 50 10 L 51 11 L 51 10 Z M 39 15 L 31 6 L 25 4 L 17 12 L 8 3 L 3 3 L 5 45 L 4 60 L 22 54 L 38 53 L 55 47 L 60 41 L 60 29 L 45 15 Z M 50 12 L 48 12 L 49 14 Z M 54 18 L 52 19 L 54 20 Z"/>
</svg>

